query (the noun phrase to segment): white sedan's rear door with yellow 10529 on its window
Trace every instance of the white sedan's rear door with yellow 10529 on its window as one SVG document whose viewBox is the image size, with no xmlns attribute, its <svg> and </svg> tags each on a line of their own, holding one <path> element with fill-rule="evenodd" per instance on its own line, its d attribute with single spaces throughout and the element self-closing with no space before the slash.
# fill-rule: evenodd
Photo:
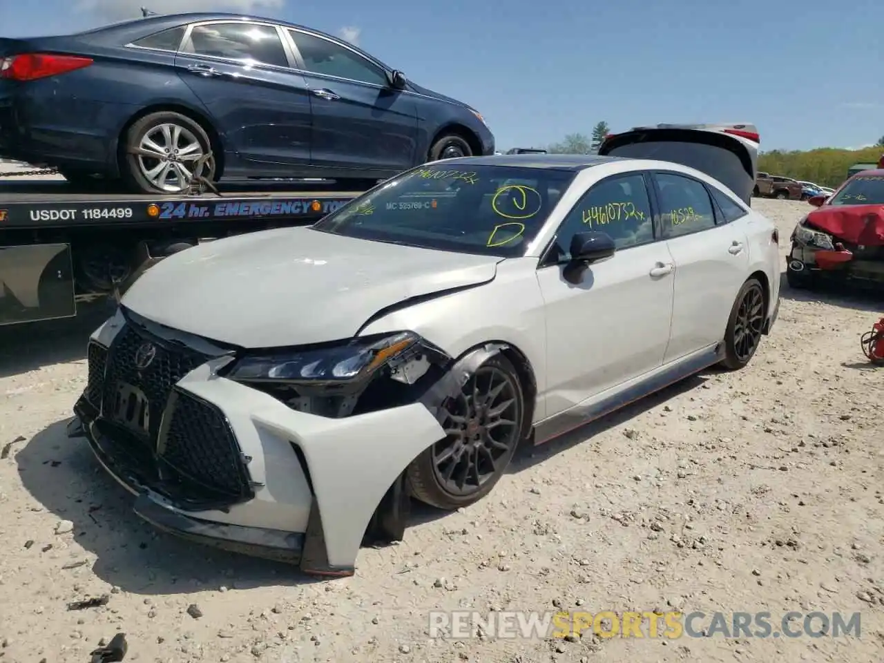
<svg viewBox="0 0 884 663">
<path fill-rule="evenodd" d="M 736 293 L 749 271 L 740 221 L 716 223 L 709 191 L 698 179 L 655 172 L 663 238 L 675 262 L 672 335 L 665 362 L 724 338 Z"/>
</svg>

